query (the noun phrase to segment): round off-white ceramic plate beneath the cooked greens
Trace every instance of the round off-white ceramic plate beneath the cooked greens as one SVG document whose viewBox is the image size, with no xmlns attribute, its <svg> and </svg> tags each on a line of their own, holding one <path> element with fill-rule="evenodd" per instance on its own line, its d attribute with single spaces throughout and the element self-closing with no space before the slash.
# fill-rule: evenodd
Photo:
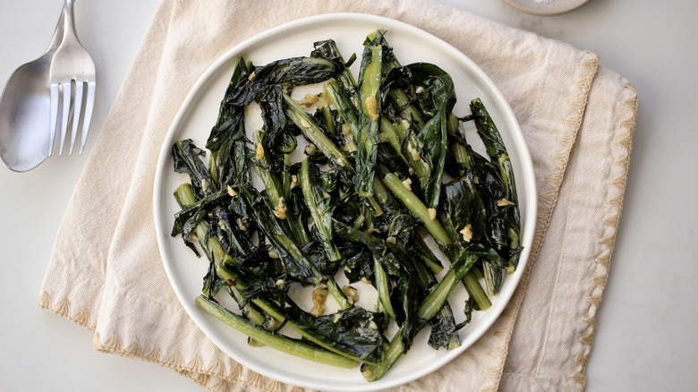
<svg viewBox="0 0 698 392">
<path fill-rule="evenodd" d="M 170 151 L 174 141 L 185 138 L 191 138 L 199 146 L 205 145 L 239 55 L 257 65 L 267 64 L 280 58 L 309 55 L 313 42 L 333 38 L 348 58 L 353 53 L 361 55 L 364 38 L 377 29 L 387 30 L 386 38 L 402 64 L 430 62 L 451 74 L 460 98 L 455 107 L 456 114 L 470 113 L 468 103 L 476 97 L 488 107 L 515 166 L 524 252 L 518 270 L 506 277 L 500 294 L 492 299 L 492 307 L 477 312 L 472 322 L 460 331 L 462 345 L 459 348 L 435 351 L 426 344 L 428 330 L 423 330 L 410 352 L 383 379 L 368 383 L 362 378 L 358 366 L 353 370 L 336 369 L 268 347 L 251 347 L 242 334 L 196 307 L 194 299 L 200 294 L 201 279 L 208 262 L 197 259 L 181 238 L 170 236 L 174 213 L 178 210 L 172 194 L 178 185 L 188 181 L 185 176 L 174 173 Z M 290 22 L 244 41 L 200 77 L 183 102 L 162 146 L 154 183 L 154 215 L 160 254 L 174 291 L 192 320 L 221 350 L 251 370 L 288 384 L 320 390 L 368 391 L 395 387 L 438 370 L 463 353 L 497 320 L 514 293 L 528 259 L 535 226 L 536 192 L 531 158 L 515 116 L 492 81 L 470 59 L 446 42 L 403 22 L 365 14 L 325 14 Z M 455 293 L 452 304 L 456 315 L 462 313 L 464 295 Z"/>
</svg>

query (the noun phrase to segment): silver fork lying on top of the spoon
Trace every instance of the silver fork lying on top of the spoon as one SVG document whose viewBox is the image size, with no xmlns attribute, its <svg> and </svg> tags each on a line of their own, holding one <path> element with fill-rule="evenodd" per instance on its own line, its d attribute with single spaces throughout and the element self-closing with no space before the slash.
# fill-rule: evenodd
<svg viewBox="0 0 698 392">
<path fill-rule="evenodd" d="M 71 149 L 75 144 L 75 136 L 81 129 L 80 154 L 85 148 L 92 118 L 92 108 L 95 104 L 95 63 L 88 51 L 82 47 L 75 33 L 73 22 L 72 0 L 65 0 L 64 5 L 64 35 L 60 46 L 51 62 L 51 126 L 48 134 L 50 141 L 48 156 L 53 153 L 56 141 L 61 145 L 58 155 L 63 155 L 65 136 L 68 125 L 72 125 Z M 61 96 L 63 96 L 61 98 Z M 58 119 L 60 115 L 60 129 Z M 59 139 L 56 139 L 59 138 Z"/>
</svg>

